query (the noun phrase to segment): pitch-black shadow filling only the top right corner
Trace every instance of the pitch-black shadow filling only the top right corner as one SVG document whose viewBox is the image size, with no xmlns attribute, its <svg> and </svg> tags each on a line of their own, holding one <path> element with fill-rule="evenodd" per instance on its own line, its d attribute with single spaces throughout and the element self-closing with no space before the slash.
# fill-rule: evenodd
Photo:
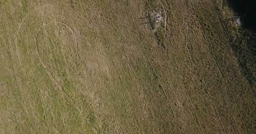
<svg viewBox="0 0 256 134">
<path fill-rule="evenodd" d="M 228 0 L 239 16 L 244 26 L 256 33 L 256 0 Z"/>
</svg>

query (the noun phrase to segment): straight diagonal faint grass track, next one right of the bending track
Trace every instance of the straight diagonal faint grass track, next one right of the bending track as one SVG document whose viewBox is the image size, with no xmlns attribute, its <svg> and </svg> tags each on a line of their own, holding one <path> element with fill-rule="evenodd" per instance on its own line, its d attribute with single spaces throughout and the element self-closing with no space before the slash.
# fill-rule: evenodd
<svg viewBox="0 0 256 134">
<path fill-rule="evenodd" d="M 223 72 L 220 70 L 220 67 L 219 67 L 219 65 L 218 65 L 218 63 L 217 63 L 217 58 L 216 58 L 216 56 L 215 56 L 215 54 L 214 54 L 214 52 L 213 52 L 213 49 L 211 48 L 211 45 L 210 45 L 210 43 L 209 43 L 207 37 L 205 36 L 205 32 L 203 31 L 203 27 L 201 26 L 201 24 L 200 24 L 200 22 L 199 22 L 199 20 L 198 20 L 198 18 L 197 18 L 194 5 L 193 5 L 193 3 L 191 2 L 191 0 L 189 0 L 189 1 L 190 1 L 191 5 L 192 5 L 192 9 L 193 9 L 195 18 L 196 18 L 196 20 L 197 20 L 198 25 L 200 26 L 200 29 L 201 29 L 201 31 L 202 31 L 202 33 L 203 33 L 203 36 L 204 36 L 204 38 L 205 38 L 205 41 L 207 42 L 207 44 L 208 44 L 208 46 L 209 46 L 209 49 L 211 50 L 211 53 L 212 53 L 212 55 L 213 55 L 213 59 L 214 59 L 214 61 L 215 61 L 216 67 L 218 68 L 218 70 L 219 70 L 219 72 L 220 72 L 220 74 L 221 74 L 221 77 L 222 77 L 222 79 L 224 80 L 224 82 L 230 84 L 229 81 L 227 80 L 227 78 L 224 77 Z M 226 87 L 227 87 L 227 86 L 226 86 Z M 227 88 L 228 88 L 228 87 L 227 87 Z M 227 91 L 230 92 L 230 91 L 229 91 L 229 88 L 227 89 Z M 245 126 L 245 123 L 244 123 L 243 118 L 242 118 L 242 115 L 241 115 L 241 113 L 240 113 L 240 111 L 239 111 L 239 109 L 238 109 L 238 106 L 237 106 L 237 103 L 236 103 L 236 101 L 235 101 L 234 96 L 233 96 L 233 95 L 229 95 L 229 96 L 231 97 L 231 100 L 232 100 L 233 103 L 235 104 L 235 107 L 236 107 L 236 109 L 237 109 L 237 111 L 238 111 L 238 113 L 239 113 L 239 116 L 240 116 L 240 119 L 241 119 L 241 121 L 242 121 L 243 126 Z"/>
</svg>

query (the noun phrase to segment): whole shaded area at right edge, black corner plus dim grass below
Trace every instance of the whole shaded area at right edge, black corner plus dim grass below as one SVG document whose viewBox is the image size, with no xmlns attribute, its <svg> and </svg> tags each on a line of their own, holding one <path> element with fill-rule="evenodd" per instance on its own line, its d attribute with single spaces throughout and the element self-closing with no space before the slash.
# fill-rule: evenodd
<svg viewBox="0 0 256 134">
<path fill-rule="evenodd" d="M 240 30 L 240 37 L 232 44 L 243 75 L 249 84 L 256 84 L 256 0 L 228 0 L 230 6 L 242 18 L 244 30 Z M 247 30 L 246 30 L 247 29 Z M 256 93 L 255 93 L 256 94 Z"/>
</svg>

